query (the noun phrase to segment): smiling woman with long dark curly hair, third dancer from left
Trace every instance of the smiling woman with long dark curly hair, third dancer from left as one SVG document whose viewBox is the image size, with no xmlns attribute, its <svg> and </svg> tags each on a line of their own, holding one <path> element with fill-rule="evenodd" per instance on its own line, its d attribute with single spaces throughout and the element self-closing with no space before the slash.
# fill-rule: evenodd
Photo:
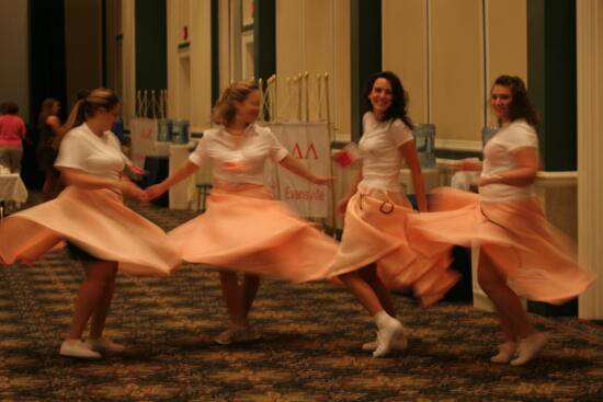
<svg viewBox="0 0 603 402">
<path fill-rule="evenodd" d="M 363 349 L 380 357 L 407 346 L 388 288 L 412 288 L 423 305 L 430 305 L 454 285 L 457 275 L 446 269 L 446 254 L 425 257 L 412 250 L 406 234 L 407 216 L 416 211 L 399 181 L 403 161 L 412 174 L 419 210 L 428 207 L 399 78 L 389 71 L 373 76 L 365 99 L 367 112 L 359 143 L 362 168 L 338 206 L 345 221 L 329 276 L 338 276 L 374 317 L 377 340 Z"/>
</svg>

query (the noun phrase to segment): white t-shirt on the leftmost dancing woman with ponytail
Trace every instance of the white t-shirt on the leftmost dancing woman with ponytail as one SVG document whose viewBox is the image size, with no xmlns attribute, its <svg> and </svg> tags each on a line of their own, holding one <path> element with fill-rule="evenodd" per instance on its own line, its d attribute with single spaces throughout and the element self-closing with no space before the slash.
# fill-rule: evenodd
<svg viewBox="0 0 603 402">
<path fill-rule="evenodd" d="M 125 156 L 113 133 L 104 131 L 99 137 L 84 123 L 65 135 L 55 166 L 78 169 L 93 176 L 118 180 L 125 166 Z"/>
</svg>

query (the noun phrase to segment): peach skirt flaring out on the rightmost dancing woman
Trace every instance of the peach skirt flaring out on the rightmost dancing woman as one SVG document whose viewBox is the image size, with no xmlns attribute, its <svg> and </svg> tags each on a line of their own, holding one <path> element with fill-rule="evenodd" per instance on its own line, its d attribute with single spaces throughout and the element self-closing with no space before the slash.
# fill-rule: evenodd
<svg viewBox="0 0 603 402">
<path fill-rule="evenodd" d="M 536 198 L 482 202 L 478 194 L 441 188 L 433 193 L 431 210 L 410 222 L 409 236 L 432 244 L 423 252 L 479 245 L 532 300 L 562 303 L 594 280 L 578 266 L 573 241 L 546 220 Z"/>
</svg>

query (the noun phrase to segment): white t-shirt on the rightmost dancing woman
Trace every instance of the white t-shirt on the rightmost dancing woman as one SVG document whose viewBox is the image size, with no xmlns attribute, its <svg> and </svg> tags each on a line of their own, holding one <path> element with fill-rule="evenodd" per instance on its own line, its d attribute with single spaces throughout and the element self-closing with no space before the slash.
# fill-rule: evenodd
<svg viewBox="0 0 603 402">
<path fill-rule="evenodd" d="M 517 168 L 513 152 L 520 148 L 538 148 L 538 136 L 524 119 L 517 119 L 502 128 L 483 147 L 482 176 L 501 174 Z M 479 187 L 482 200 L 512 200 L 534 197 L 534 185 L 523 187 L 509 184 L 489 184 Z"/>
</svg>

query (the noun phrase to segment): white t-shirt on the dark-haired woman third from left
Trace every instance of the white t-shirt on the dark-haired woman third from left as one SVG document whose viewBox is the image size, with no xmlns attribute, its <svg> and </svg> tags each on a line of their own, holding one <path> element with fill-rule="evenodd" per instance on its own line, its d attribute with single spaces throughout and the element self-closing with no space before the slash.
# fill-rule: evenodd
<svg viewBox="0 0 603 402">
<path fill-rule="evenodd" d="M 399 118 L 378 122 L 372 112 L 362 118 L 363 135 L 359 142 L 363 158 L 361 185 L 400 192 L 400 169 L 403 158 L 398 150 L 412 141 L 412 130 Z"/>
</svg>

